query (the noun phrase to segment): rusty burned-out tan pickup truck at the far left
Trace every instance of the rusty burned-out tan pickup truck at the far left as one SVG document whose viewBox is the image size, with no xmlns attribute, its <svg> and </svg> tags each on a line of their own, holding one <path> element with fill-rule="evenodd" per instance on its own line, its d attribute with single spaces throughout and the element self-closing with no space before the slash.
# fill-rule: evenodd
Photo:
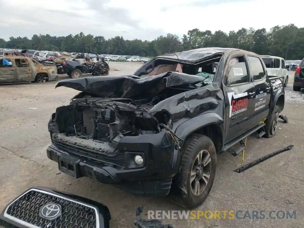
<svg viewBox="0 0 304 228">
<path fill-rule="evenodd" d="M 0 55 L 0 83 L 41 83 L 57 80 L 57 77 L 56 66 L 44 66 L 25 56 Z"/>
</svg>

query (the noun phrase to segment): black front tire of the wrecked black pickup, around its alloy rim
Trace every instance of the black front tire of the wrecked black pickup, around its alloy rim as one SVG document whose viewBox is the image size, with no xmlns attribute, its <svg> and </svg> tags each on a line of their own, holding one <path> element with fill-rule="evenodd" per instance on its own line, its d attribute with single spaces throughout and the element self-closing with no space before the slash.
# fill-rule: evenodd
<svg viewBox="0 0 304 228">
<path fill-rule="evenodd" d="M 210 165 L 210 170 L 205 173 L 203 170 L 204 168 L 201 167 L 200 171 L 202 172 L 199 173 L 199 171 L 196 170 L 195 173 L 197 175 L 201 175 L 202 177 L 205 174 L 208 174 L 209 180 L 207 181 L 203 191 L 199 195 L 195 195 L 193 192 L 192 183 L 195 182 L 196 184 L 197 179 L 195 174 L 195 179 L 191 181 L 191 174 L 193 172 L 193 167 L 195 164 L 197 164 L 196 162 L 198 155 L 200 152 L 205 150 L 209 152 L 208 157 L 210 162 L 207 163 L 204 168 Z M 176 178 L 178 203 L 187 209 L 194 209 L 202 205 L 212 188 L 216 173 L 216 149 L 209 137 L 205 135 L 192 135 L 185 141 L 182 147 L 182 152 L 183 155 L 181 157 L 181 163 Z"/>
</svg>

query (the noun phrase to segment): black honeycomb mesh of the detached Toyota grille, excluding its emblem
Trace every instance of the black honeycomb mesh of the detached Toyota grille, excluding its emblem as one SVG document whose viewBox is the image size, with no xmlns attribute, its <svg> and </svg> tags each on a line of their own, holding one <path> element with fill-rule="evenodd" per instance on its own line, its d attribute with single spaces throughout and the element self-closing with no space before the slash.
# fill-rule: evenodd
<svg viewBox="0 0 304 228">
<path fill-rule="evenodd" d="M 61 205 L 62 210 L 61 216 L 51 222 L 39 216 L 40 208 L 50 202 Z M 93 208 L 35 190 L 17 199 L 9 206 L 6 213 L 42 228 L 96 227 L 96 213 Z"/>
</svg>

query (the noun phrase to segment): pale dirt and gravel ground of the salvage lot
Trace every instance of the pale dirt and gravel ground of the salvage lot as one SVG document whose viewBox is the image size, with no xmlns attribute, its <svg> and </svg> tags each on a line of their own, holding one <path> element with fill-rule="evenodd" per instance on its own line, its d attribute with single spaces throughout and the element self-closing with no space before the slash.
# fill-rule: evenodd
<svg viewBox="0 0 304 228">
<path fill-rule="evenodd" d="M 132 74 L 139 63 L 110 62 L 111 75 Z M 289 123 L 279 123 L 279 132 L 271 139 L 247 139 L 245 163 L 288 145 L 283 152 L 243 173 L 233 172 L 241 156 L 218 156 L 213 188 L 200 210 L 296 210 L 296 219 L 221 219 L 164 220 L 176 227 L 304 227 L 304 122 L 303 92 L 292 91 L 292 75 L 286 88 L 283 114 Z M 112 214 L 111 227 L 133 227 L 135 209 L 179 210 L 170 197 L 145 198 L 131 195 L 90 178 L 73 178 L 60 173 L 57 163 L 46 156 L 50 144 L 47 123 L 56 107 L 66 105 L 77 94 L 69 88 L 57 88 L 56 82 L 0 86 L 0 208 L 33 185 L 74 193 L 107 205 Z M 36 109 L 29 109 L 36 108 Z M 292 204 L 286 204 L 289 200 Z"/>
</svg>

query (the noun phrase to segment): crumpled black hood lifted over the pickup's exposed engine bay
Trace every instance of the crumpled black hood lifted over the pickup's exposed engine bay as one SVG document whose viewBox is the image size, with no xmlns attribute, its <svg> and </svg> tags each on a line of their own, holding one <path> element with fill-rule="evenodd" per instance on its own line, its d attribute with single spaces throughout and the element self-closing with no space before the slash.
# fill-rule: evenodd
<svg viewBox="0 0 304 228">
<path fill-rule="evenodd" d="M 65 86 L 75 90 L 106 97 L 131 98 L 135 95 L 155 96 L 167 87 L 195 85 L 205 78 L 178 72 L 166 72 L 146 78 L 128 76 L 97 76 L 59 81 L 56 87 Z"/>
</svg>

